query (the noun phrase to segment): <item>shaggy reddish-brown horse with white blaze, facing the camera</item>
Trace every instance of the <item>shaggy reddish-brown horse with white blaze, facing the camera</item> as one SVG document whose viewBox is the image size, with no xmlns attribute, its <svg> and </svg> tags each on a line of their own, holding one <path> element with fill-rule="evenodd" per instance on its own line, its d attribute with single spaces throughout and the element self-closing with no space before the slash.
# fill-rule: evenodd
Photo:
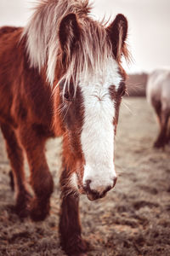
<svg viewBox="0 0 170 256">
<path fill-rule="evenodd" d="M 88 0 L 42 0 L 25 27 L 0 29 L 0 125 L 14 175 L 20 217 L 44 219 L 53 178 L 48 137 L 63 137 L 59 231 L 69 255 L 81 255 L 78 201 L 96 200 L 116 183 L 114 138 L 125 92 L 127 19 L 107 26 Z M 26 187 L 24 154 L 34 198 Z"/>
</svg>

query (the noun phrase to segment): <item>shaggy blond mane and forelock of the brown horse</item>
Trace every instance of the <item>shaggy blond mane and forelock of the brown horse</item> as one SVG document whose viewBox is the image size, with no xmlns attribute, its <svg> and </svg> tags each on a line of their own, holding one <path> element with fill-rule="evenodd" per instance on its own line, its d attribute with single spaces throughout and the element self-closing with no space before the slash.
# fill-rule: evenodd
<svg viewBox="0 0 170 256">
<path fill-rule="evenodd" d="M 108 40 L 105 24 L 92 20 L 88 0 L 44 0 L 39 1 L 34 15 L 24 30 L 26 47 L 31 67 L 41 71 L 47 64 L 47 79 L 54 84 L 56 62 L 62 52 L 59 46 L 60 21 L 70 13 L 77 15 L 81 27 L 77 49 L 73 53 L 68 50 L 67 70 L 61 79 L 69 84 L 71 79 L 77 85 L 80 73 L 88 76 L 93 71 L 104 70 L 105 63 L 112 55 L 111 43 Z"/>
</svg>

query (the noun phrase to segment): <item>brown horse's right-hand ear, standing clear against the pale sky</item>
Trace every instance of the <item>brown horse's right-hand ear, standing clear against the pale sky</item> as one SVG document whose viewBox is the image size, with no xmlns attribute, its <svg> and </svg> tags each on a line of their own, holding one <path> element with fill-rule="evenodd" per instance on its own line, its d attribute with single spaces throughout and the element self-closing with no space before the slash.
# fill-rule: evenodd
<svg viewBox="0 0 170 256">
<path fill-rule="evenodd" d="M 127 18 L 124 15 L 116 15 L 115 20 L 106 28 L 116 61 L 121 61 L 126 48 L 127 27 Z"/>
</svg>

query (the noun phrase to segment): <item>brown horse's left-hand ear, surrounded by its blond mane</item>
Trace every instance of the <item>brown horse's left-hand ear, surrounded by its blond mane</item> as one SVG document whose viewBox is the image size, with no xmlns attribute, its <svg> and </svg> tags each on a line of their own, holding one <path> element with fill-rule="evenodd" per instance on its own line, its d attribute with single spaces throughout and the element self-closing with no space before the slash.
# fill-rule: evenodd
<svg viewBox="0 0 170 256">
<path fill-rule="evenodd" d="M 66 53 L 70 52 L 80 37 L 80 26 L 77 22 L 77 15 L 69 14 L 61 20 L 59 25 L 59 43 L 61 49 Z M 69 50 L 69 51 L 67 51 Z"/>
</svg>

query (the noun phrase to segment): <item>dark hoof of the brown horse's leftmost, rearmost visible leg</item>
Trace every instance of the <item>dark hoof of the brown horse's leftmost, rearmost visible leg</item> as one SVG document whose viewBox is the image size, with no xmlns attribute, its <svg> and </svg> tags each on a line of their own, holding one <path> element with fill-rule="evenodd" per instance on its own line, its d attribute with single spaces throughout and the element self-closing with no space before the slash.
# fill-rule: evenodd
<svg viewBox="0 0 170 256">
<path fill-rule="evenodd" d="M 30 215 L 31 195 L 29 192 L 21 193 L 17 196 L 14 210 L 20 218 L 26 218 Z"/>
</svg>

